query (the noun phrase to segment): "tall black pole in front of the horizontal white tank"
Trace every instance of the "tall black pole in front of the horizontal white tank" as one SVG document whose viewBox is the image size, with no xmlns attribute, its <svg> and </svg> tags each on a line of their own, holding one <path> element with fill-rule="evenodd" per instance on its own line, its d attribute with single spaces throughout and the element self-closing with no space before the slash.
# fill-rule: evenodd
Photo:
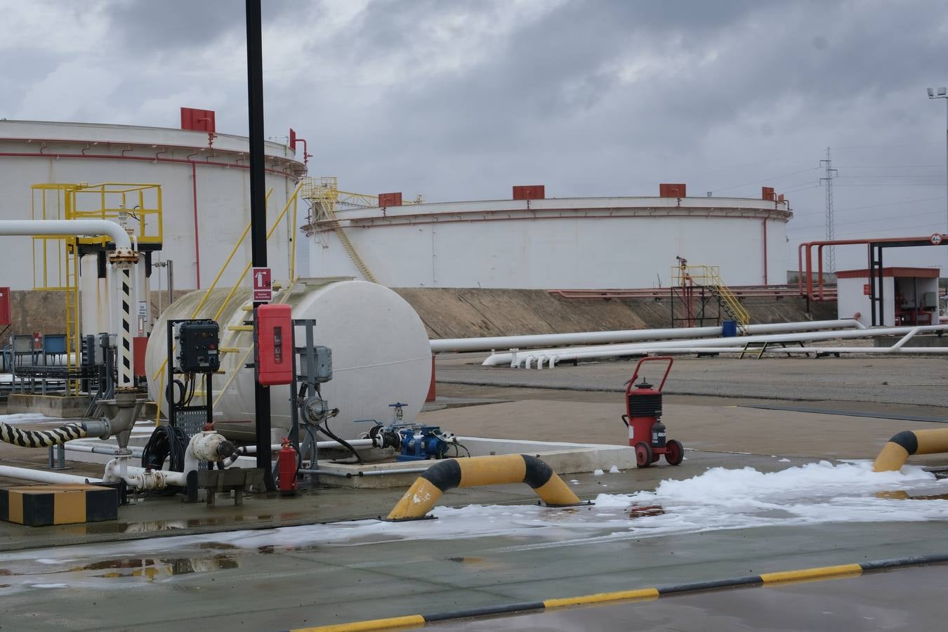
<svg viewBox="0 0 948 632">
<path fill-rule="evenodd" d="M 254 267 L 266 266 L 266 198 L 264 188 L 264 45 L 260 0 L 246 0 L 246 93 L 250 127 L 250 251 Z M 263 303 L 254 301 L 254 308 Z M 254 317 L 254 326 L 257 319 Z M 256 335 L 254 336 L 256 344 Z M 254 354 L 256 356 L 256 353 Z M 256 372 L 256 369 L 254 370 Z M 264 484 L 273 491 L 270 462 L 270 388 L 254 380 L 257 423 L 257 467 L 264 470 Z"/>
</svg>

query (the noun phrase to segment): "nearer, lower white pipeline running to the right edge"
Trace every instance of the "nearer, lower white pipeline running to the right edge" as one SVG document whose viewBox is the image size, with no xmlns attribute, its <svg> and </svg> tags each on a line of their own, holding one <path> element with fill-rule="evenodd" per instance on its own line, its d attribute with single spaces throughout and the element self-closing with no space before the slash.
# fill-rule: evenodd
<svg viewBox="0 0 948 632">
<path fill-rule="evenodd" d="M 634 343 L 626 345 L 600 345 L 592 347 L 544 349 L 521 353 L 494 353 L 483 361 L 483 365 L 486 367 L 509 365 L 513 368 L 525 366 L 526 368 L 530 369 L 533 368 L 534 364 L 540 368 L 544 364 L 550 366 L 552 362 L 553 365 L 556 365 L 557 362 L 562 362 L 564 360 L 581 360 L 596 357 L 622 357 L 642 354 L 645 352 L 664 352 L 666 350 L 672 349 L 702 349 L 711 352 L 714 349 L 730 348 L 737 349 L 738 352 L 740 352 L 743 351 L 743 348 L 734 347 L 734 343 L 738 340 L 744 344 L 756 342 L 807 342 L 818 340 L 868 338 L 881 335 L 904 335 L 909 333 L 914 335 L 920 332 L 938 332 L 943 331 L 944 329 L 944 325 L 925 325 L 921 327 L 881 327 L 860 329 L 855 331 L 747 335 L 741 336 L 740 338 L 667 340 L 664 342 Z M 904 342 L 902 342 L 902 344 L 904 344 Z"/>
</svg>

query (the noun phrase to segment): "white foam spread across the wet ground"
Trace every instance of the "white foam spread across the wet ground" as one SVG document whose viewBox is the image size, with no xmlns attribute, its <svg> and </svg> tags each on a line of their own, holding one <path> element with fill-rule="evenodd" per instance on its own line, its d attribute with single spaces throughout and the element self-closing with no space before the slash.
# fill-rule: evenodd
<svg viewBox="0 0 948 632">
<path fill-rule="evenodd" d="M 356 547 L 408 539 L 465 539 L 513 536 L 511 546 L 494 551 L 577 546 L 621 539 L 641 539 L 671 533 L 699 533 L 831 522 L 948 521 L 948 500 L 906 498 L 948 495 L 948 480 L 937 480 L 920 467 L 901 472 L 872 472 L 868 461 L 833 465 L 828 461 L 789 467 L 772 473 L 711 468 L 684 480 L 663 480 L 654 491 L 600 494 L 595 505 L 552 509 L 537 505 L 470 505 L 437 507 L 436 520 L 381 522 L 356 520 L 279 529 L 160 537 L 98 545 L 55 547 L 4 554 L 10 574 L 3 577 L 11 590 L 28 589 L 43 580 L 119 587 L 126 580 L 100 579 L 83 565 L 102 559 L 193 556 L 195 568 L 213 554 L 210 543 L 237 547 L 255 554 L 259 547 L 291 550 L 307 546 Z M 357 493 L 357 492 L 355 492 Z M 203 545 L 203 546 L 202 546 Z M 487 546 L 487 545 L 484 545 Z M 39 561 L 47 572 L 37 573 Z M 364 564 L 385 564 L 370 560 Z M 226 572 L 210 569 L 208 572 Z M 101 571 L 95 571 L 100 573 Z M 28 580 L 28 581 L 27 581 Z M 137 582 L 129 578 L 129 582 Z M 168 576 L 160 581 L 175 581 Z M 51 583 L 51 582 L 49 582 Z M 47 584 L 48 585 L 48 584 Z"/>
</svg>

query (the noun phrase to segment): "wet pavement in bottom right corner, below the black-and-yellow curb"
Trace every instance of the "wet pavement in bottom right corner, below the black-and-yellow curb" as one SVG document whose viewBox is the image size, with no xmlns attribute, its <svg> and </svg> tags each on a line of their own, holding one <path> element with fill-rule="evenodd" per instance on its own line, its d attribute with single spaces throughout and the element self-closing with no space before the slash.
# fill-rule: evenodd
<svg viewBox="0 0 948 632">
<path fill-rule="evenodd" d="M 728 588 L 426 627 L 438 632 L 940 630 L 944 629 L 945 571 L 944 566 L 898 569 L 815 583 Z"/>
</svg>

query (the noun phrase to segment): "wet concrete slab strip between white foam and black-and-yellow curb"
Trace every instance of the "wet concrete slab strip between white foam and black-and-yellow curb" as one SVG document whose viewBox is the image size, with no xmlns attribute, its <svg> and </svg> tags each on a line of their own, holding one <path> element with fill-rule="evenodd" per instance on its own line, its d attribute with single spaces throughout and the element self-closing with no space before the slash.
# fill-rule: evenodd
<svg viewBox="0 0 948 632">
<path fill-rule="evenodd" d="M 46 559 L 47 551 L 29 560 L 6 557 L 0 614 L 17 630 L 64 622 L 73 630 L 279 630 L 942 552 L 943 531 L 933 523 L 877 523 L 871 530 L 841 523 L 543 547 L 531 545 L 544 538 L 525 535 L 340 546 L 319 534 L 306 544 L 282 532 L 257 533 L 244 544 L 210 536 L 167 541 L 167 549 L 119 543 L 50 553 L 63 562 Z M 285 545 L 282 536 L 290 540 Z M 589 612 L 586 627 L 565 629 L 628 629 L 598 627 L 596 611 Z"/>
</svg>

